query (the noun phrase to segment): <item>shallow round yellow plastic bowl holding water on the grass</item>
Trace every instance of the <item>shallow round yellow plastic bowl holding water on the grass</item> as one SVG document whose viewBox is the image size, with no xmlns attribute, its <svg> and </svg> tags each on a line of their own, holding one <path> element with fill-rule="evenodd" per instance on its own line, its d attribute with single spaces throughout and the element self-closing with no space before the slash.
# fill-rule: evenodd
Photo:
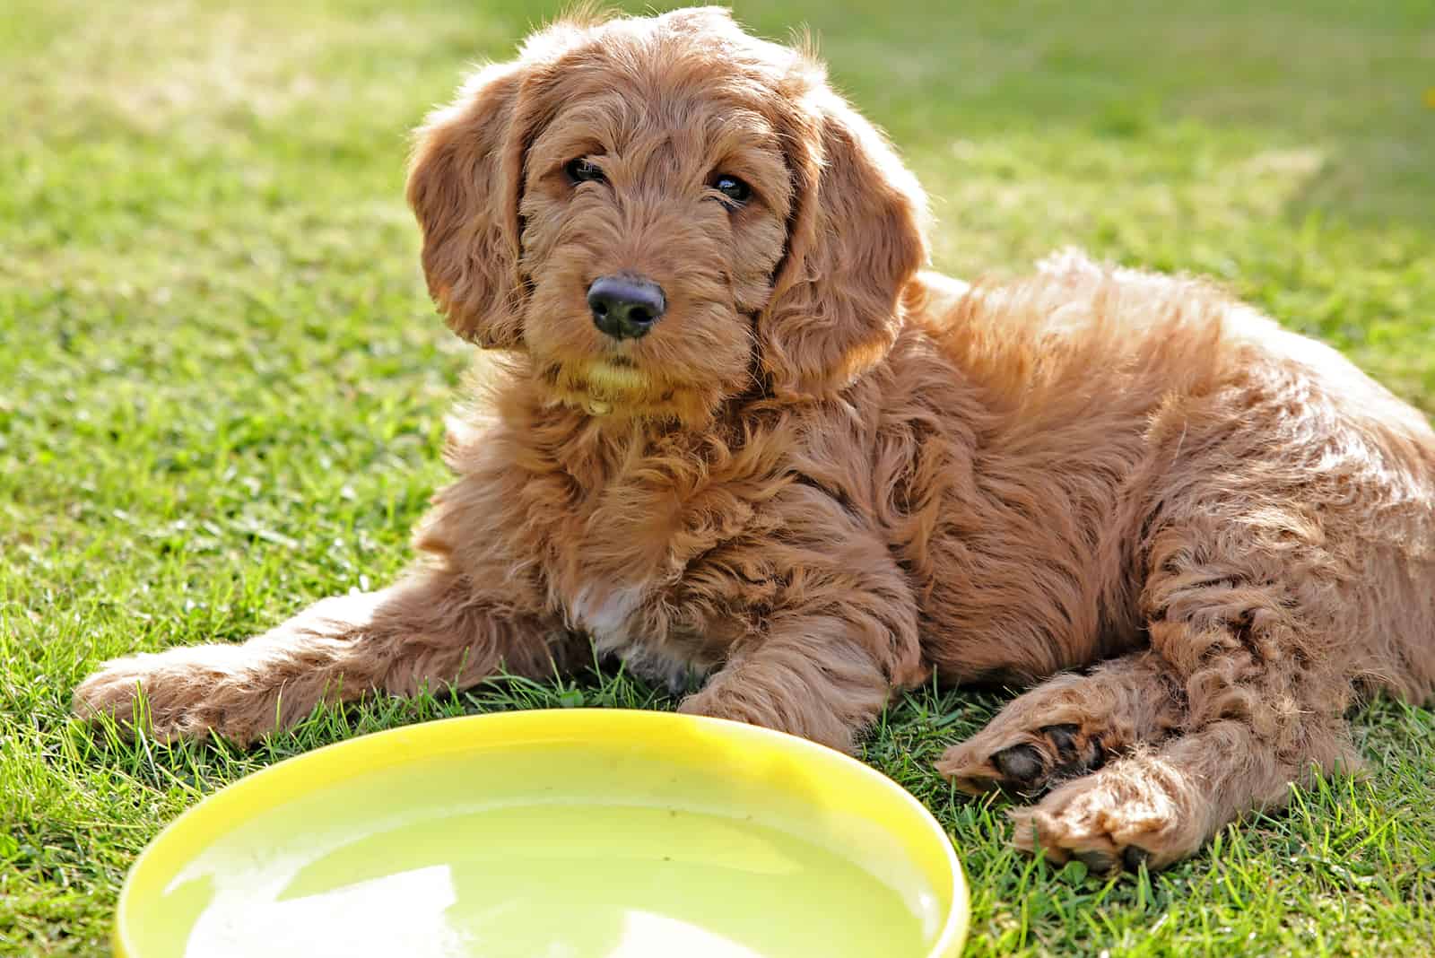
<svg viewBox="0 0 1435 958">
<path fill-rule="evenodd" d="M 319 749 L 135 862 L 121 958 L 950 958 L 967 891 L 891 780 L 716 718 L 574 708 Z"/>
</svg>

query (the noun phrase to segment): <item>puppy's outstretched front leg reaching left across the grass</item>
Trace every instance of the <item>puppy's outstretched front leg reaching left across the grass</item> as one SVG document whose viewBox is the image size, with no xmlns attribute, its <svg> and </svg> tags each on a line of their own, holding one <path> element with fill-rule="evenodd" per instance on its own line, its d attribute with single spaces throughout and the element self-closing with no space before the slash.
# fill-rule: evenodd
<svg viewBox="0 0 1435 958">
<path fill-rule="evenodd" d="M 499 665 L 551 674 L 564 640 L 551 622 L 486 601 L 464 577 L 422 571 L 379 592 L 323 599 L 243 645 L 109 661 L 76 690 L 75 711 L 144 721 L 164 740 L 217 731 L 244 744 L 320 701 L 464 688 Z"/>
</svg>

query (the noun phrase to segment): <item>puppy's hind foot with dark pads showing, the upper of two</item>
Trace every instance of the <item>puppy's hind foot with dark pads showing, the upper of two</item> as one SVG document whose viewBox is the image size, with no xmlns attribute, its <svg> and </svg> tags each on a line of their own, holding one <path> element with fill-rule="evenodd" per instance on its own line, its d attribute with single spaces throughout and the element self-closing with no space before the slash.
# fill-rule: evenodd
<svg viewBox="0 0 1435 958">
<path fill-rule="evenodd" d="M 1012 700 L 982 731 L 947 749 L 937 770 L 973 795 L 1000 786 L 1035 796 L 1138 743 L 1165 739 L 1181 724 L 1182 697 L 1158 654 L 1132 653 Z"/>
</svg>

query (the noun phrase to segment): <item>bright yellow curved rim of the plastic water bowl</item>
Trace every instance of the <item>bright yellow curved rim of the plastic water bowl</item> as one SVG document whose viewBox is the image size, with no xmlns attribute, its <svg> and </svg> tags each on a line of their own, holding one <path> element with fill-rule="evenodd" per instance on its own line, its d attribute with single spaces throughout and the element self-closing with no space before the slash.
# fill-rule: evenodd
<svg viewBox="0 0 1435 958">
<path fill-rule="evenodd" d="M 380 729 L 377 731 L 352 736 L 349 739 L 331 741 L 326 746 L 281 759 L 274 764 L 264 766 L 257 772 L 251 772 L 250 774 L 211 792 L 165 825 L 131 863 L 129 871 L 125 875 L 125 881 L 121 885 L 119 898 L 115 902 L 115 921 L 110 931 L 110 944 L 115 949 L 115 957 L 144 958 L 133 942 L 132 929 L 129 928 L 129 912 L 135 906 L 135 902 L 132 901 L 136 895 L 135 885 L 142 876 L 142 872 L 152 866 L 152 862 L 158 858 L 158 849 L 165 846 L 166 839 L 172 839 L 177 832 L 192 827 L 192 823 L 201 815 L 211 813 L 215 806 L 243 802 L 248 793 L 265 789 L 271 780 L 281 780 L 286 776 L 291 776 L 291 769 L 300 763 L 333 763 L 336 756 L 340 753 L 354 751 L 360 759 L 352 763 L 353 772 L 357 776 L 382 769 L 387 764 L 400 764 L 415 757 L 433 757 L 448 751 L 464 751 L 466 750 L 464 744 L 452 746 L 455 730 L 461 724 L 472 726 L 474 723 L 486 723 L 492 726 L 511 723 L 521 727 L 524 724 L 545 724 L 554 721 L 560 724 L 568 723 L 571 726 L 567 730 L 570 733 L 567 736 L 568 740 L 593 737 L 594 731 L 613 731 L 616 727 L 630 730 L 634 726 L 649 726 L 650 730 L 656 730 L 654 734 L 662 734 L 662 729 L 664 726 L 667 729 L 676 729 L 683 724 L 690 727 L 707 727 L 730 739 L 759 740 L 763 744 L 782 751 L 788 757 L 796 757 L 799 762 L 815 760 L 818 763 L 827 762 L 844 766 L 850 774 L 865 779 L 874 787 L 888 795 L 914 820 L 914 823 L 921 827 L 924 839 L 936 842 L 951 879 L 951 905 L 947 909 L 946 921 L 943 922 L 936 941 L 921 958 L 954 958 L 961 954 L 961 947 L 966 942 L 970 922 L 970 892 L 966 875 L 961 869 L 961 862 L 957 859 L 951 836 L 941 826 L 941 823 L 937 822 L 936 816 L 926 805 L 888 776 L 883 774 L 865 762 L 860 762 L 858 759 L 835 749 L 829 749 L 824 744 L 818 744 L 808 739 L 784 731 L 765 729 L 762 726 L 730 721 L 728 718 L 713 718 L 710 716 L 690 716 L 684 713 L 657 711 L 649 708 L 578 707 L 491 711 L 471 716 L 455 716 L 451 718 L 436 718 L 432 721 L 416 721 L 393 729 Z M 606 726 L 606 729 L 601 729 L 601 726 Z M 578 731 L 583 734 L 577 734 Z M 422 756 L 408 754 L 408 750 L 405 749 L 392 749 L 389 750 L 390 760 L 387 762 L 364 762 L 363 759 L 373 759 L 382 754 L 383 747 L 380 740 L 389 743 L 400 743 L 406 740 L 408 744 L 422 744 L 422 740 L 429 740 L 429 746 L 433 743 L 448 741 L 451 743 L 451 747 L 429 749 Z M 474 741 L 468 740 L 466 744 L 468 747 L 472 747 Z M 326 779 L 326 783 L 334 783 L 339 780 L 343 779 Z"/>
</svg>

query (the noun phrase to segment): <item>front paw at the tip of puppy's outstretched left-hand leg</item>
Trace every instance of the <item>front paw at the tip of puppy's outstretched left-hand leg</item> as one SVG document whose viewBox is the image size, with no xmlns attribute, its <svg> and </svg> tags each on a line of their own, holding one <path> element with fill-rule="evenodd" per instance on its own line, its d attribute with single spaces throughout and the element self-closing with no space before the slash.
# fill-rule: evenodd
<svg viewBox="0 0 1435 958">
<path fill-rule="evenodd" d="M 126 731 L 142 729 L 161 741 L 204 739 L 220 731 L 240 743 L 247 730 L 225 723 L 220 687 L 232 680 L 240 648 L 197 645 L 115 658 L 75 690 L 80 718 L 110 716 Z"/>
</svg>

